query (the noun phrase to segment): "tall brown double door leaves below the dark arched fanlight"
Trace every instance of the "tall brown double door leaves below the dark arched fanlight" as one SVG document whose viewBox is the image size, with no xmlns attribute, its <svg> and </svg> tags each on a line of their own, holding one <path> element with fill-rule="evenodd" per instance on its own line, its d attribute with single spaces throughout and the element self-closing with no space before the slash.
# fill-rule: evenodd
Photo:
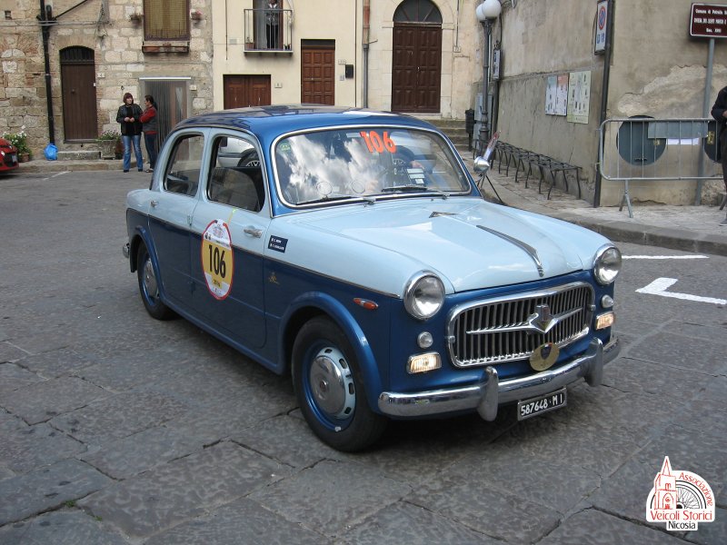
<svg viewBox="0 0 727 545">
<path fill-rule="evenodd" d="M 438 113 L 442 27 L 393 25 L 392 111 Z"/>
</svg>

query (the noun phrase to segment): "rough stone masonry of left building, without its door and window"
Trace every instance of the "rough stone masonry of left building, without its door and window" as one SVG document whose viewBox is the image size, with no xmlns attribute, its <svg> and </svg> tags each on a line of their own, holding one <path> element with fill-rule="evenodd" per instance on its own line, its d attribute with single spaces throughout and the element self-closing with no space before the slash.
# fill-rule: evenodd
<svg viewBox="0 0 727 545">
<path fill-rule="evenodd" d="M 95 84 L 98 133 L 118 129 L 115 114 L 125 92 L 141 100 L 141 77 L 189 77 L 192 92 L 189 114 L 212 109 L 212 19 L 207 0 L 191 0 L 191 9 L 203 13 L 201 21 L 190 21 L 188 52 L 148 52 L 144 25 L 129 19 L 143 13 L 143 0 L 55 0 L 50 27 L 49 59 L 51 97 L 55 122 L 55 144 L 61 151 L 95 147 L 94 142 L 65 143 L 59 54 L 80 45 L 95 51 Z M 73 9 L 72 9 L 73 8 Z M 49 142 L 45 93 L 45 61 L 36 0 L 0 0 L 0 132 L 19 132 L 25 127 L 35 157 L 42 156 Z M 69 11 L 70 10 L 70 11 Z M 67 13 L 65 13 L 67 12 Z M 164 48 L 162 48 L 164 49 Z"/>
</svg>

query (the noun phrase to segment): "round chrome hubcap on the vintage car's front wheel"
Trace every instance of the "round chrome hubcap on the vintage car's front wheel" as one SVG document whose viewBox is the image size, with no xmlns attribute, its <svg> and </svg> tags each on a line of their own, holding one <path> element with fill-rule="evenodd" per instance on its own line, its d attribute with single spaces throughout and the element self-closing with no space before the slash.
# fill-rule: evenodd
<svg viewBox="0 0 727 545">
<path fill-rule="evenodd" d="M 311 393 L 321 411 L 338 420 L 354 413 L 354 377 L 342 352 L 331 347 L 318 352 L 308 378 Z"/>
</svg>

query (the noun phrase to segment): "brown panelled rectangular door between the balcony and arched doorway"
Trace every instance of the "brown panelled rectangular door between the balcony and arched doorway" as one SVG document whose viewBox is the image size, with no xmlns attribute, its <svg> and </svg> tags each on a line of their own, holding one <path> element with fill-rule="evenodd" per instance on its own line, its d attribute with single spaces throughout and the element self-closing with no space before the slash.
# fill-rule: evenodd
<svg viewBox="0 0 727 545">
<path fill-rule="evenodd" d="M 335 46 L 302 45 L 301 102 L 335 104 Z"/>
</svg>

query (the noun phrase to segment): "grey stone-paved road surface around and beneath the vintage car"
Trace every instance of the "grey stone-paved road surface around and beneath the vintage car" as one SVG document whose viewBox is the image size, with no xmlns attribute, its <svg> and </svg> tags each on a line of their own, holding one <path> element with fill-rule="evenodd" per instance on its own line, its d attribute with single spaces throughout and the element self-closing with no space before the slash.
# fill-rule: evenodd
<svg viewBox="0 0 727 545">
<path fill-rule="evenodd" d="M 727 258 L 626 260 L 622 356 L 563 410 L 394 422 L 342 454 L 289 377 L 144 312 L 121 247 L 148 182 L 0 177 L 0 544 L 727 541 Z M 713 522 L 646 522 L 664 456 Z"/>
</svg>

